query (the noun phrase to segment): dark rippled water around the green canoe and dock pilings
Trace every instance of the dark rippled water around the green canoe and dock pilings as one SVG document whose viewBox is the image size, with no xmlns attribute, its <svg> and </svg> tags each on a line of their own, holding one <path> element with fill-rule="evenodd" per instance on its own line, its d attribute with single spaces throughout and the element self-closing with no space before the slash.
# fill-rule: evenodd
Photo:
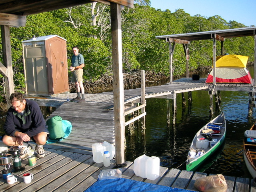
<svg viewBox="0 0 256 192">
<path fill-rule="evenodd" d="M 250 74 L 253 75 L 253 71 L 250 70 Z M 185 96 L 187 99 L 188 95 Z M 138 128 L 134 136 L 129 136 L 126 130 L 126 160 L 134 161 L 135 158 L 146 154 L 158 156 L 161 166 L 168 168 L 180 166 L 178 169 L 186 170 L 186 156 L 194 134 L 204 124 L 218 116 L 221 110 L 226 116 L 227 124 L 225 143 L 197 171 L 251 178 L 244 164 L 242 141 L 244 131 L 256 121 L 256 110 L 254 108 L 249 118 L 247 92 L 222 91 L 221 98 L 220 109 L 214 105 L 214 114 L 210 116 L 210 99 L 207 91 L 192 92 L 192 102 L 187 100 L 185 106 L 182 106 L 181 94 L 178 94 L 176 124 L 170 126 L 167 125 L 166 120 L 166 100 L 147 99 L 146 136 L 142 136 Z M 41 107 L 41 109 L 46 118 L 50 114 L 49 108 Z M 4 118 L 0 118 L 0 133 L 3 122 Z"/>
</svg>

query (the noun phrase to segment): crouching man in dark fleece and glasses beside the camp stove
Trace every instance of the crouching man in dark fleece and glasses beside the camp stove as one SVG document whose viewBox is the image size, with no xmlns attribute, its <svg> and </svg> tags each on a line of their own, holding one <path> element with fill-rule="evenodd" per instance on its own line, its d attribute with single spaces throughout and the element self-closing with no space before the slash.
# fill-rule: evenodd
<svg viewBox="0 0 256 192">
<path fill-rule="evenodd" d="M 2 140 L 7 146 L 22 146 L 23 142 L 32 139 L 36 142 L 37 157 L 44 157 L 44 147 L 47 135 L 44 116 L 38 104 L 26 100 L 22 93 L 12 93 L 10 96 L 12 106 L 8 109 L 4 124 L 5 135 Z M 22 146 L 20 158 L 27 155 L 30 146 Z"/>
</svg>

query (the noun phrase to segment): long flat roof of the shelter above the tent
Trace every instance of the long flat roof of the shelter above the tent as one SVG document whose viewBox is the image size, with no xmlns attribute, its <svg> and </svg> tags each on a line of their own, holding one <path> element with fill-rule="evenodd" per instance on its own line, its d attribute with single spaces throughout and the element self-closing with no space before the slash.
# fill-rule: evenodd
<svg viewBox="0 0 256 192">
<path fill-rule="evenodd" d="M 223 38 L 242 37 L 242 36 L 254 36 L 256 27 L 245 27 L 236 29 L 186 33 L 186 34 L 173 34 L 156 36 L 157 39 L 176 38 L 180 40 L 194 41 L 194 40 L 206 40 L 212 39 L 213 34 L 217 34 Z"/>
</svg>

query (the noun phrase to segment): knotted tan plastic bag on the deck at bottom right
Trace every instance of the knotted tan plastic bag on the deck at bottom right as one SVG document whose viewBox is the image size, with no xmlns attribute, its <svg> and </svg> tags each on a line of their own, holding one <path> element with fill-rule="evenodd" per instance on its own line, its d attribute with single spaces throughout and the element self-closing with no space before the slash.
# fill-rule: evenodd
<svg viewBox="0 0 256 192">
<path fill-rule="evenodd" d="M 204 192 L 225 192 L 228 188 L 226 180 L 222 174 L 198 178 L 194 186 L 198 190 Z"/>
</svg>

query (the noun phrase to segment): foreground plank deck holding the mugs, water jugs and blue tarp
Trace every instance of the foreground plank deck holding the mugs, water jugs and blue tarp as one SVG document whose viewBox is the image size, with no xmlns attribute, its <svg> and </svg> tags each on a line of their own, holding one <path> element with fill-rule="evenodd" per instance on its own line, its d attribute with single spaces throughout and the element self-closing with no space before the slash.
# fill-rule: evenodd
<svg viewBox="0 0 256 192">
<path fill-rule="evenodd" d="M 110 169 L 114 166 L 114 160 L 110 167 L 103 163 L 93 162 L 92 155 L 85 154 L 83 150 L 69 152 L 58 149 L 45 148 L 46 156 L 36 159 L 35 166 L 28 166 L 28 159 L 22 160 L 24 171 L 13 173 L 18 182 L 10 185 L 0 178 L 0 192 L 82 192 L 97 181 L 100 170 Z M 80 153 L 81 152 L 81 153 Z M 133 171 L 133 162 L 126 162 L 122 168 L 122 178 L 132 179 L 162 186 L 171 186 L 188 190 L 196 190 L 194 182 L 197 178 L 207 176 L 205 173 L 160 167 L 160 176 L 155 180 L 138 177 Z M 22 175 L 32 173 L 30 184 L 23 182 Z M 249 178 L 225 176 L 228 184 L 227 192 L 255 192 Z"/>
</svg>

